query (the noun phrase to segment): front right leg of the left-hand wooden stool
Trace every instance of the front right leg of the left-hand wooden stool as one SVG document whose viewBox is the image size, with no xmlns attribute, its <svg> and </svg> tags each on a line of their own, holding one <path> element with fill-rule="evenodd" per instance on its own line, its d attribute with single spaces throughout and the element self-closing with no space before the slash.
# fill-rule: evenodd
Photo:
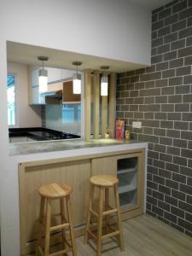
<svg viewBox="0 0 192 256">
<path fill-rule="evenodd" d="M 68 215 L 70 236 L 72 241 L 72 251 L 73 251 L 73 256 L 77 256 L 77 249 L 76 249 L 75 236 L 74 236 L 74 230 L 73 230 L 72 207 L 71 207 L 70 195 L 67 195 L 66 200 L 67 200 L 67 215 Z"/>
</svg>

